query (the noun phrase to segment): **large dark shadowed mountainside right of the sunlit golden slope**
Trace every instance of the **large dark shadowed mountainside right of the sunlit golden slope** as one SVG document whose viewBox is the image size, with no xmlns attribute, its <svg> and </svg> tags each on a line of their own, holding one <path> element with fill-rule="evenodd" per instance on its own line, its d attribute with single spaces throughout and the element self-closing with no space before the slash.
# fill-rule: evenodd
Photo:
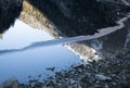
<svg viewBox="0 0 130 88">
<path fill-rule="evenodd" d="M 114 26 L 129 7 L 96 0 L 26 0 L 42 12 L 65 36 L 93 35 Z"/>
</svg>

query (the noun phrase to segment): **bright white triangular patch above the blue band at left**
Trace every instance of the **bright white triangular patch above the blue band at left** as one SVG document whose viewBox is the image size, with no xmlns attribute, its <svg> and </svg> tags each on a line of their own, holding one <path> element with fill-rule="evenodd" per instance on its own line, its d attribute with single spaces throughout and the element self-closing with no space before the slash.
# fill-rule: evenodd
<svg viewBox="0 0 130 88">
<path fill-rule="evenodd" d="M 17 20 L 15 26 L 3 34 L 3 38 L 0 40 L 0 50 L 22 48 L 35 41 L 46 41 L 51 39 L 54 38 L 48 33 L 40 29 L 34 29 Z"/>
</svg>

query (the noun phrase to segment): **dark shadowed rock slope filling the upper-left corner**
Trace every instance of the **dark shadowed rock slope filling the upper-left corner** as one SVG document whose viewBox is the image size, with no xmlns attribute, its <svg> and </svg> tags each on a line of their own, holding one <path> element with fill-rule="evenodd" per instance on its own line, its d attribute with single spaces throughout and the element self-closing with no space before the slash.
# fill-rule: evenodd
<svg viewBox="0 0 130 88">
<path fill-rule="evenodd" d="M 14 24 L 22 11 L 23 0 L 0 0 L 0 34 Z"/>
</svg>

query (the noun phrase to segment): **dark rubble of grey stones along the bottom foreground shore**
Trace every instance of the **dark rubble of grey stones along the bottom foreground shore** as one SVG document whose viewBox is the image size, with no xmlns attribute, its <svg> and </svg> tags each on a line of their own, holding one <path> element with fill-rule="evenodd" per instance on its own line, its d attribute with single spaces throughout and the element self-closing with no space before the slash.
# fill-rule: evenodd
<svg viewBox="0 0 130 88">
<path fill-rule="evenodd" d="M 74 64 L 43 81 L 32 78 L 23 84 L 9 79 L 0 88 L 129 88 L 130 51 L 125 52 L 112 59 Z"/>
</svg>

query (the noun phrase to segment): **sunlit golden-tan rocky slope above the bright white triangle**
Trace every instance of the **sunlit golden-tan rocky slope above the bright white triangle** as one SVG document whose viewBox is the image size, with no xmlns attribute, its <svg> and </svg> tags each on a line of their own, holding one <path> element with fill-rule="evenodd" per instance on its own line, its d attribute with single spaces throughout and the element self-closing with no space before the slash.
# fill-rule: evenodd
<svg viewBox="0 0 130 88">
<path fill-rule="evenodd" d="M 27 1 L 23 2 L 23 11 L 18 18 L 34 28 L 48 32 L 56 38 L 60 36 L 58 30 L 46 14 Z"/>
</svg>

